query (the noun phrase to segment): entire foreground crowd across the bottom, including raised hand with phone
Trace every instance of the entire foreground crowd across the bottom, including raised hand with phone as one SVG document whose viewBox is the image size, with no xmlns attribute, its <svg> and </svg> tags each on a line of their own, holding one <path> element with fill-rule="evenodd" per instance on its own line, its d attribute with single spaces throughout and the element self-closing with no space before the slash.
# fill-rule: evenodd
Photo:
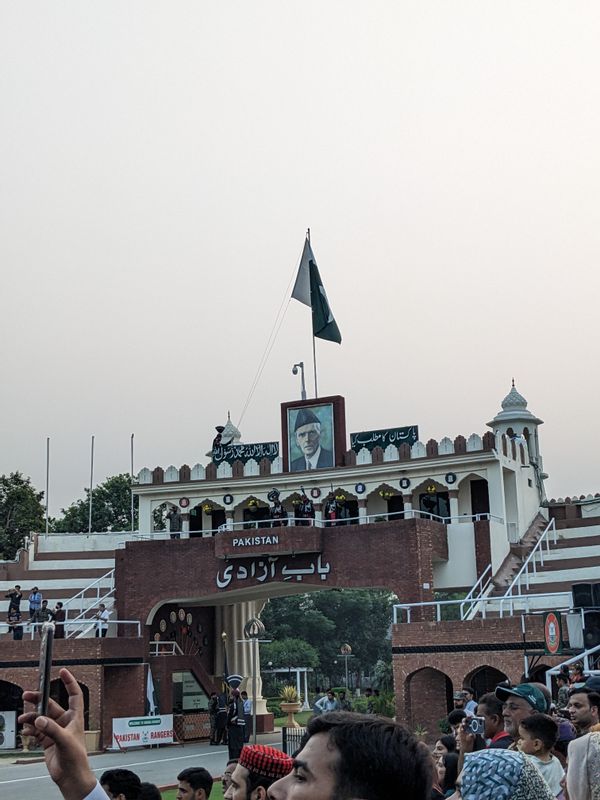
<svg viewBox="0 0 600 800">
<path fill-rule="evenodd" d="M 85 749 L 81 689 L 68 670 L 62 669 L 60 677 L 69 698 L 68 709 L 51 701 L 48 716 L 27 711 L 20 722 L 24 733 L 35 736 L 43 747 L 48 771 L 65 800 L 159 797 L 156 787 L 142 784 L 128 770 L 109 770 L 96 780 Z M 582 685 L 570 684 L 568 694 L 562 694 L 566 706 L 556 710 L 542 684 L 512 686 L 506 682 L 478 701 L 465 688 L 455 694 L 456 708 L 448 716 L 453 733 L 441 736 L 433 751 L 392 720 L 329 710 L 328 704 L 337 698 L 327 693 L 321 698 L 325 701 L 322 713 L 309 720 L 293 756 L 267 745 L 242 743 L 223 772 L 224 797 L 599 800 L 597 681 L 590 678 Z M 235 692 L 227 711 L 232 720 L 244 714 L 241 694 Z M 38 693 L 25 692 L 23 699 L 34 704 Z M 561 711 L 562 715 L 557 713 Z M 202 767 L 184 770 L 177 781 L 178 800 L 210 797 L 213 777 Z"/>
</svg>

